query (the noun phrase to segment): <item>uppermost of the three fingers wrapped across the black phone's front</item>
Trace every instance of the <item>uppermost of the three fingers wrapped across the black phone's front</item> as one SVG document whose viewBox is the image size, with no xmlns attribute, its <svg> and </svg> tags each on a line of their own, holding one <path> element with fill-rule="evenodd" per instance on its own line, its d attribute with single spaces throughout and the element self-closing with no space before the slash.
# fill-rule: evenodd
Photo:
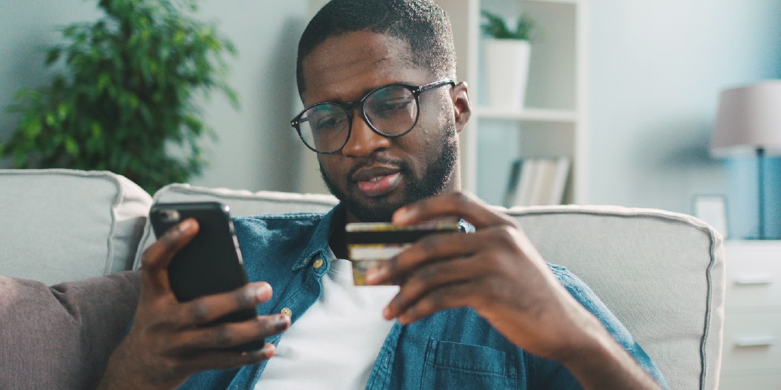
<svg viewBox="0 0 781 390">
<path fill-rule="evenodd" d="M 203 296 L 180 305 L 173 314 L 177 318 L 172 323 L 182 324 L 183 328 L 208 324 L 240 310 L 255 310 L 260 303 L 270 300 L 272 295 L 269 283 L 257 282 L 229 293 Z"/>
</svg>

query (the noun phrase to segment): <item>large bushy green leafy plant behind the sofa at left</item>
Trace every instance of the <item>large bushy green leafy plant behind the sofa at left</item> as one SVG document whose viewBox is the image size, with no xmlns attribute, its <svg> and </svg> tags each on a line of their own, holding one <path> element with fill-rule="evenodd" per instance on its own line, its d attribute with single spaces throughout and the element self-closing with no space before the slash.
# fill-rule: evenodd
<svg viewBox="0 0 781 390">
<path fill-rule="evenodd" d="M 16 130 L 0 144 L 15 168 L 109 170 L 154 193 L 199 175 L 198 140 L 214 134 L 195 98 L 213 89 L 237 105 L 223 51 L 234 46 L 196 19 L 194 0 L 99 0 L 105 16 L 62 28 L 51 85 L 16 94 Z M 59 66 L 64 62 L 64 66 Z"/>
</svg>

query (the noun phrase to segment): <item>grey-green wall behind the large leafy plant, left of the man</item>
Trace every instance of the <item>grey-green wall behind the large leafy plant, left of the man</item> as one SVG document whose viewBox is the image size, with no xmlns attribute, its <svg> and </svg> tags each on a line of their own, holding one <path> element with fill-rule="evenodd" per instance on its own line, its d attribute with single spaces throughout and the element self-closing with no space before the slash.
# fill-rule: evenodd
<svg viewBox="0 0 781 390">
<path fill-rule="evenodd" d="M 0 107 L 20 87 L 48 80 L 44 49 L 58 41 L 55 27 L 102 15 L 96 1 L 0 0 Z M 241 108 L 215 94 L 203 101 L 206 121 L 219 141 L 207 144 L 209 168 L 193 184 L 249 190 L 298 190 L 301 146 L 290 126 L 298 108 L 295 50 L 308 14 L 306 0 L 201 0 L 198 15 L 217 20 L 237 47 L 230 58 L 230 84 Z M 0 140 L 16 116 L 0 115 Z"/>
</svg>

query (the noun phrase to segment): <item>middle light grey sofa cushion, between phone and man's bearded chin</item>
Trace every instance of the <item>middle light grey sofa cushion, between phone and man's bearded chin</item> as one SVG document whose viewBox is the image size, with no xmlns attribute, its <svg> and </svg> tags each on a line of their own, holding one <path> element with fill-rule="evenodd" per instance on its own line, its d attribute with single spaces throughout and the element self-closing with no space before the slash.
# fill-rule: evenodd
<svg viewBox="0 0 781 390">
<path fill-rule="evenodd" d="M 169 184 L 155 193 L 155 203 L 218 201 L 230 207 L 230 215 L 241 217 L 260 214 L 294 212 L 326 212 L 337 204 L 337 198 L 317 193 L 283 193 L 276 191 L 251 192 L 226 188 L 207 188 L 189 184 Z M 141 267 L 141 254 L 155 242 L 155 233 L 148 222 L 144 225 L 133 268 Z"/>
</svg>

